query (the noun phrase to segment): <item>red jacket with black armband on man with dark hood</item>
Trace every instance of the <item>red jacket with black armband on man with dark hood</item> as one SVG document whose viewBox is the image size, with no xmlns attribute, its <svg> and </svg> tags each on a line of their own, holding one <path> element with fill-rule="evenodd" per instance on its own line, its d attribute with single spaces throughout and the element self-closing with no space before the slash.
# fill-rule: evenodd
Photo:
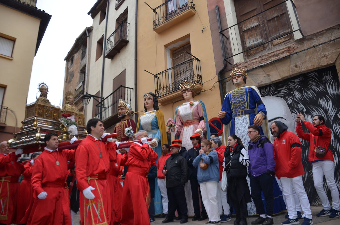
<svg viewBox="0 0 340 225">
<path fill-rule="evenodd" d="M 305 174 L 301 158 L 301 142 L 294 133 L 284 131 L 275 139 L 274 159 L 277 178 L 293 178 Z"/>
</svg>

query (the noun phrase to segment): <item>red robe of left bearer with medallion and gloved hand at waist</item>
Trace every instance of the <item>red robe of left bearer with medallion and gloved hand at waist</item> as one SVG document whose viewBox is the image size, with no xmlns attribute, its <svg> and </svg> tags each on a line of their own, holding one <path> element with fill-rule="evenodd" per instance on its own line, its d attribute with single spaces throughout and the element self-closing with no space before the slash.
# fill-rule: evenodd
<svg viewBox="0 0 340 225">
<path fill-rule="evenodd" d="M 31 184 L 33 207 L 27 225 L 71 225 L 70 199 L 67 188 L 67 161 L 74 158 L 74 150 L 45 150 L 34 162 Z M 45 199 L 37 196 L 47 192 Z"/>
</svg>

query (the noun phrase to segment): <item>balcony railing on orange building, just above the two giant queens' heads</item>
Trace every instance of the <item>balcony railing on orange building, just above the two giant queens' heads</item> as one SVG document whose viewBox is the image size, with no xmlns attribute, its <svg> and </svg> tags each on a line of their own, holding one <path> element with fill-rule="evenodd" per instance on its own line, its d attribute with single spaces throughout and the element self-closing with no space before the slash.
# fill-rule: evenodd
<svg viewBox="0 0 340 225">
<path fill-rule="evenodd" d="M 184 81 L 203 84 L 200 59 L 195 56 L 192 57 L 181 64 L 154 75 L 157 97 L 179 90 L 180 84 Z"/>
</svg>

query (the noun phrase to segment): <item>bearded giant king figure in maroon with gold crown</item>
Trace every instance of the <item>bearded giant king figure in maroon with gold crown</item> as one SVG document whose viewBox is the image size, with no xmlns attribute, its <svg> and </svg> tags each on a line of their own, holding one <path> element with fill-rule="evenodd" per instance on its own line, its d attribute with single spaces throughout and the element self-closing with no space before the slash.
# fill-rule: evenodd
<svg viewBox="0 0 340 225">
<path fill-rule="evenodd" d="M 136 124 L 135 121 L 130 119 L 131 117 L 131 105 L 126 101 L 119 99 L 118 102 L 118 118 L 121 119 L 119 123 L 116 124 L 113 133 L 118 133 L 118 141 L 129 141 L 130 138 L 125 135 L 125 128 L 129 128 L 130 126 L 133 129 L 133 133 L 136 132 Z M 130 140 L 131 141 L 131 140 Z"/>
</svg>

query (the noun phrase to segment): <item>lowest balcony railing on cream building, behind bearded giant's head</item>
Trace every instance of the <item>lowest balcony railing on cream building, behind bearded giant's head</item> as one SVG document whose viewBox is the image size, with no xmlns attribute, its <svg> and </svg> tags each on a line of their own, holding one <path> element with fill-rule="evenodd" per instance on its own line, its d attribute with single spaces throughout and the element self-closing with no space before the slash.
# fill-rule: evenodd
<svg viewBox="0 0 340 225">
<path fill-rule="evenodd" d="M 131 105 L 133 88 L 120 85 L 109 96 L 96 105 L 96 118 L 106 120 L 117 114 L 119 99 L 123 99 Z"/>
</svg>

